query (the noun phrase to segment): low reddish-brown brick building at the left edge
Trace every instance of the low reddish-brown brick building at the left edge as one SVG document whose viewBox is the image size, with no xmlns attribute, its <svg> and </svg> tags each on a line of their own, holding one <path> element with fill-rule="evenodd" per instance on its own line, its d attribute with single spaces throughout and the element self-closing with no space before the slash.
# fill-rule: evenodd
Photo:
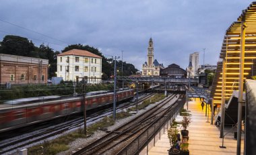
<svg viewBox="0 0 256 155">
<path fill-rule="evenodd" d="M 0 84 L 47 83 L 49 60 L 0 54 Z"/>
</svg>

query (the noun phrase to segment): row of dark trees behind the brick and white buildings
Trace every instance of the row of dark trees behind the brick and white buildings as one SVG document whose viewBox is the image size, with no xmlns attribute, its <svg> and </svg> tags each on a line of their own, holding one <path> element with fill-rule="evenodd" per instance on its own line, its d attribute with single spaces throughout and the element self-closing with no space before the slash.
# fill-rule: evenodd
<svg viewBox="0 0 256 155">
<path fill-rule="evenodd" d="M 0 53 L 12 54 L 17 56 L 28 56 L 33 58 L 43 58 L 49 60 L 49 77 L 56 76 L 57 72 L 57 55 L 61 52 L 66 52 L 72 49 L 87 50 L 98 56 L 102 56 L 102 79 L 109 79 L 110 76 L 114 74 L 114 63 L 112 58 L 106 58 L 97 48 L 82 45 L 82 44 L 72 44 L 65 47 L 62 51 L 54 51 L 49 45 L 41 44 L 39 47 L 34 46 L 32 40 L 28 38 L 23 38 L 20 36 L 7 35 L 0 42 Z M 122 61 L 117 62 L 117 67 L 120 70 L 118 74 L 121 75 L 121 64 Z M 133 66 L 123 62 L 123 76 L 129 76 L 135 74 L 138 70 Z"/>
</svg>

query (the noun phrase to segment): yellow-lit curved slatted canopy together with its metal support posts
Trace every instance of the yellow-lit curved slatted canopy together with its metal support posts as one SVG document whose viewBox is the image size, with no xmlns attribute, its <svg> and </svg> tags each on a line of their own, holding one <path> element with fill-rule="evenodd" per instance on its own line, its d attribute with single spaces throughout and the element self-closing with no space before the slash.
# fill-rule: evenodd
<svg viewBox="0 0 256 155">
<path fill-rule="evenodd" d="M 251 3 L 247 9 L 234 21 L 224 36 L 220 58 L 218 62 L 216 76 L 212 87 L 211 96 L 213 103 L 224 104 L 234 90 L 239 90 L 238 97 L 238 129 L 237 129 L 237 150 L 236 154 L 241 154 L 241 109 L 243 101 L 243 85 L 245 79 L 251 78 L 253 72 L 253 59 L 256 58 L 256 2 Z M 224 74 L 224 76 L 222 76 Z M 221 119 L 224 119 L 224 115 Z M 222 127 L 224 121 L 222 120 Z M 223 129 L 220 133 L 223 136 Z"/>
</svg>

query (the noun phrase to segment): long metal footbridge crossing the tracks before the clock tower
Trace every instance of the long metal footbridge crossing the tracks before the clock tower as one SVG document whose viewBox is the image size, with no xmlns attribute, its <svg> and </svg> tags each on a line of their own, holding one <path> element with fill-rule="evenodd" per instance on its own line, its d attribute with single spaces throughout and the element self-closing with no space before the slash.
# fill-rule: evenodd
<svg viewBox="0 0 256 155">
<path fill-rule="evenodd" d="M 189 79 L 187 78 L 170 78 L 170 77 L 154 77 L 154 76 L 119 76 L 117 77 L 118 81 L 131 81 L 139 83 L 181 83 L 181 84 L 188 84 Z M 190 79 L 191 84 L 198 84 L 198 79 Z"/>
</svg>

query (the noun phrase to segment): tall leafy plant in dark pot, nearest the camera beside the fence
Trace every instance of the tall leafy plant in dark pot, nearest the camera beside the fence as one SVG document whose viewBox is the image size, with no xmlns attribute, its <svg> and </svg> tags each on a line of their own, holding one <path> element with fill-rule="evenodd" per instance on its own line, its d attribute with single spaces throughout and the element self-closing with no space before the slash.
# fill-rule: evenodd
<svg viewBox="0 0 256 155">
<path fill-rule="evenodd" d="M 170 141 L 170 150 L 168 150 L 169 155 L 180 154 L 180 151 L 175 149 L 175 144 L 178 140 L 178 138 L 177 138 L 178 133 L 179 133 L 179 130 L 177 130 L 176 128 L 170 127 L 170 129 L 168 129 L 168 138 Z"/>
</svg>

